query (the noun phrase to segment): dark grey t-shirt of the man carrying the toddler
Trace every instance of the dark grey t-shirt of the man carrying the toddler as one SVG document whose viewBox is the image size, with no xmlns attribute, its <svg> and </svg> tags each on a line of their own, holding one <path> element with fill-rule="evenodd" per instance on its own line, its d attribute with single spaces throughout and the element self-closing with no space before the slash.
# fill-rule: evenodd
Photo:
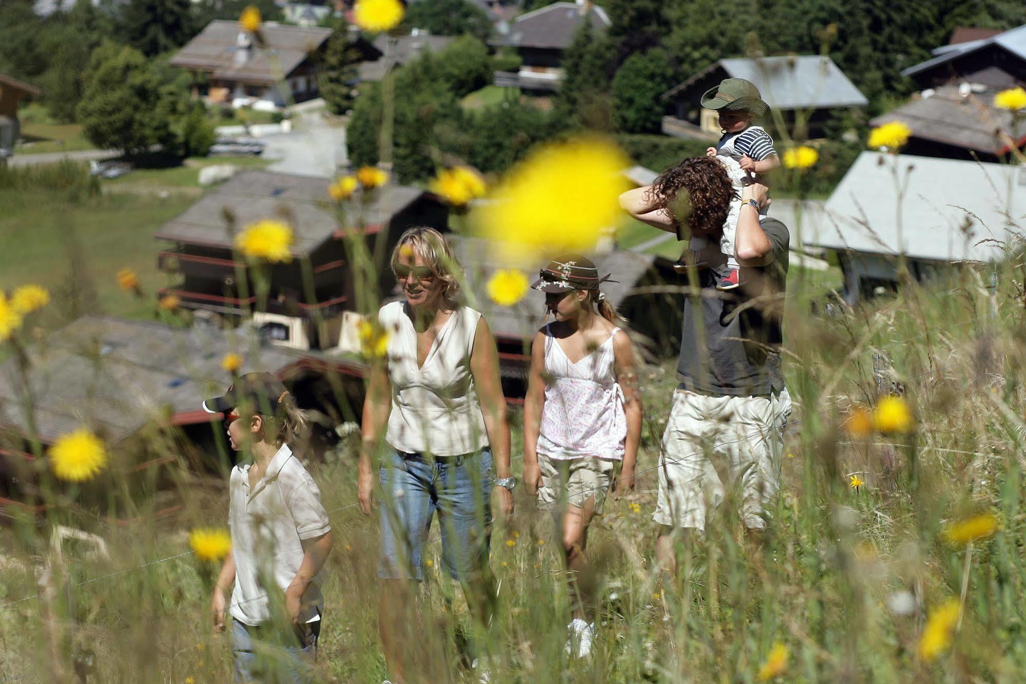
<svg viewBox="0 0 1026 684">
<path fill-rule="evenodd" d="M 684 389 L 717 396 L 765 396 L 784 388 L 780 345 L 790 233 L 777 219 L 764 219 L 761 226 L 773 242 L 770 264 L 742 268 L 741 288 L 729 292 L 716 290 L 713 269 L 703 269 L 701 297 L 684 299 L 677 364 Z"/>
</svg>

